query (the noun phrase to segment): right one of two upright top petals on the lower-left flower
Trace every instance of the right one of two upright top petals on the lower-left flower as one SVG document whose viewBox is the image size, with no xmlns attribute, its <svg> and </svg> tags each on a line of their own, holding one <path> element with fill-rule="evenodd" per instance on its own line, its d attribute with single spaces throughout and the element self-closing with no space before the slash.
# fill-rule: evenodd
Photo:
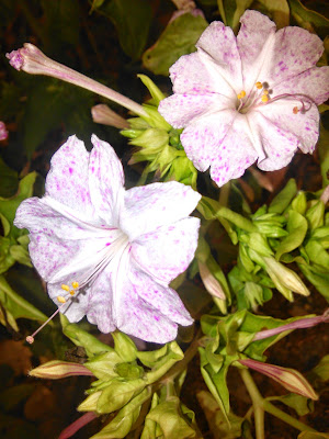
<svg viewBox="0 0 329 439">
<path fill-rule="evenodd" d="M 107 224 L 116 225 L 124 193 L 124 173 L 120 159 L 106 142 L 94 134 L 89 161 L 89 184 L 92 203 Z"/>
</svg>

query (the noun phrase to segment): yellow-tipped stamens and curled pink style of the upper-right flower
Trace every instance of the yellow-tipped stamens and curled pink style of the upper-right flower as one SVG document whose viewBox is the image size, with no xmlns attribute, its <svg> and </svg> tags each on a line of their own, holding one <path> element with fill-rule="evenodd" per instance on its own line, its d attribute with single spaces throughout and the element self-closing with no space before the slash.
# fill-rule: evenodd
<svg viewBox="0 0 329 439">
<path fill-rule="evenodd" d="M 297 105 L 292 106 L 292 112 L 294 114 L 298 114 L 299 112 L 305 113 L 306 111 L 308 111 L 314 103 L 309 97 L 300 93 L 284 93 L 271 98 L 273 90 L 270 89 L 268 82 L 257 81 L 254 88 L 256 89 L 251 90 L 248 95 L 245 90 L 241 90 L 240 93 L 237 94 L 237 111 L 239 113 L 246 114 L 249 111 L 260 108 L 262 105 L 269 105 L 272 102 L 285 99 L 294 101 L 294 103 L 296 103 L 296 101 L 299 102 Z"/>
</svg>

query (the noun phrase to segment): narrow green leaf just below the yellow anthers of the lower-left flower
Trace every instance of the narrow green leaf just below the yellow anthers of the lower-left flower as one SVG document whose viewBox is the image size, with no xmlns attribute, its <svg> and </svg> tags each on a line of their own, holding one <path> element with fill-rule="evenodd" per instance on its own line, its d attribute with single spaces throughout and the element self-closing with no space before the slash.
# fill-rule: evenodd
<svg viewBox="0 0 329 439">
<path fill-rule="evenodd" d="M 94 336 L 81 329 L 79 325 L 69 323 L 64 314 L 60 314 L 63 333 L 76 345 L 86 349 L 88 357 L 94 357 L 100 353 L 113 351 L 111 346 L 98 340 Z"/>
</svg>

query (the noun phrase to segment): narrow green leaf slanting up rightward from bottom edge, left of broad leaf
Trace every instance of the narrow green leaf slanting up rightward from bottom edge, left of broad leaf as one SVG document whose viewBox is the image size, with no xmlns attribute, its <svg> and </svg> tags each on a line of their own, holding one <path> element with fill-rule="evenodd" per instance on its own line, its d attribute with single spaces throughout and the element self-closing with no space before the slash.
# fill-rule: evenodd
<svg viewBox="0 0 329 439">
<path fill-rule="evenodd" d="M 125 438 L 138 418 L 143 403 L 150 396 L 150 391 L 145 389 L 139 395 L 126 404 L 110 424 L 90 439 Z"/>
</svg>

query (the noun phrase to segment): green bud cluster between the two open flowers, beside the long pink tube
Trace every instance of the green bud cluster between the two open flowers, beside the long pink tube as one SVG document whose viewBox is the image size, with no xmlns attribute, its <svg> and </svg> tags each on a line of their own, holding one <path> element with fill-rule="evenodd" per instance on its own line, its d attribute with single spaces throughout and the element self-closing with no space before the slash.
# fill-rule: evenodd
<svg viewBox="0 0 329 439">
<path fill-rule="evenodd" d="M 121 131 L 122 135 L 131 139 L 131 145 L 140 148 L 133 154 L 129 164 L 148 162 L 141 175 L 141 183 L 152 172 L 156 178 L 175 180 L 196 189 L 197 171 L 180 142 L 182 130 L 174 130 L 158 112 L 159 102 L 166 98 L 164 94 L 147 76 L 138 77 L 150 92 L 151 100 L 143 104 L 147 116 L 129 119 L 129 128 Z"/>
</svg>

